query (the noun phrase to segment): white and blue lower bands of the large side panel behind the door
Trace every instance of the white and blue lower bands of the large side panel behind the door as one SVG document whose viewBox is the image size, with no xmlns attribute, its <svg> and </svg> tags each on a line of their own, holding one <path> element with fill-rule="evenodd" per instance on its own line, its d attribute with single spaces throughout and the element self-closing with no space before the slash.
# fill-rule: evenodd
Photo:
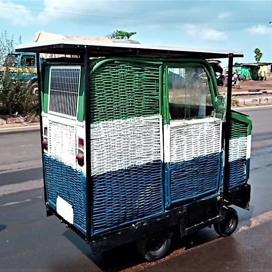
<svg viewBox="0 0 272 272">
<path fill-rule="evenodd" d="M 160 119 L 92 124 L 94 234 L 162 211 Z"/>
</svg>

